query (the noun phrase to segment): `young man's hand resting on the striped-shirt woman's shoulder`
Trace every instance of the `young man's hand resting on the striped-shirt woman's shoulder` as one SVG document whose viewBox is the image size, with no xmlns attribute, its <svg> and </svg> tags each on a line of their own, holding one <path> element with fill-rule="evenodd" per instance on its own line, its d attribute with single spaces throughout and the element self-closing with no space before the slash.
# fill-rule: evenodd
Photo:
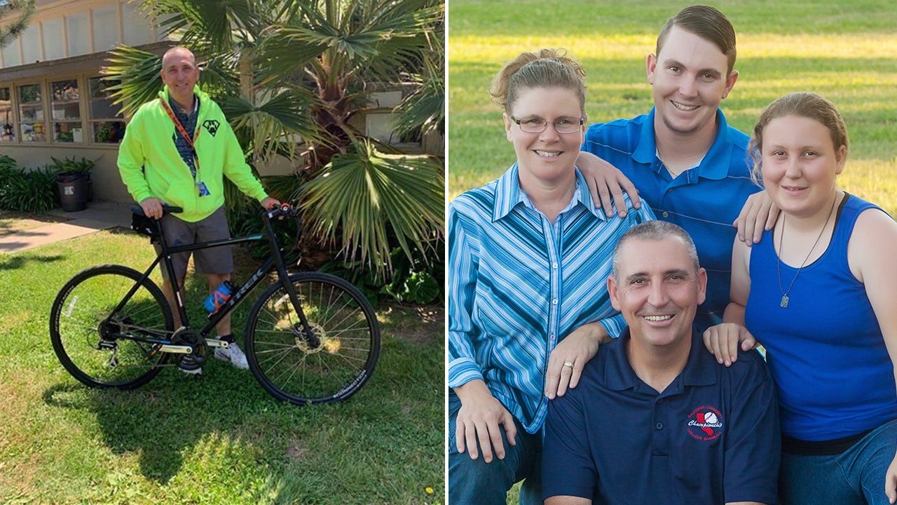
<svg viewBox="0 0 897 505">
<path fill-rule="evenodd" d="M 632 200 L 632 207 L 641 208 L 639 190 L 635 189 L 629 179 L 614 165 L 605 162 L 596 155 L 580 152 L 576 158 L 576 167 L 586 180 L 588 192 L 592 194 L 595 207 L 601 206 L 605 210 L 605 216 L 614 217 L 614 206 L 617 215 L 626 216 L 626 202 L 623 201 L 623 191 Z"/>
</svg>

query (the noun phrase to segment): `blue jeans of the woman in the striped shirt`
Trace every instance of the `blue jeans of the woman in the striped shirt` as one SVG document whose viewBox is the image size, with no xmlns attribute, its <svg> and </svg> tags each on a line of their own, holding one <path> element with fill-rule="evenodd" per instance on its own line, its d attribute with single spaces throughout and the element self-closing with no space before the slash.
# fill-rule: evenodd
<svg viewBox="0 0 897 505">
<path fill-rule="evenodd" d="M 451 403 L 449 402 L 450 405 Z M 520 421 L 515 419 L 517 445 L 508 445 L 505 430 L 501 427 L 501 443 L 505 447 L 504 459 L 495 457 L 493 452 L 492 462 L 485 463 L 482 450 L 476 459 L 471 459 L 467 450 L 463 454 L 457 452 L 456 421 L 457 408 L 449 408 L 448 503 L 450 505 L 505 505 L 508 490 L 521 480 L 523 485 L 520 488 L 520 505 L 542 505 L 541 433 L 530 435 L 523 430 Z"/>
</svg>

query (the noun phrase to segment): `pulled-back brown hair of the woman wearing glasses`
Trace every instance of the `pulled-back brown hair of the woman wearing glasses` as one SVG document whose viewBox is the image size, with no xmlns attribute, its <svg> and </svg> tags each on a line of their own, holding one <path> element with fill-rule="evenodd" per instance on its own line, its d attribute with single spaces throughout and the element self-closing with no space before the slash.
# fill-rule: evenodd
<svg viewBox="0 0 897 505">
<path fill-rule="evenodd" d="M 579 111 L 586 115 L 586 71 L 564 49 L 541 49 L 538 53 L 520 53 L 501 67 L 492 79 L 492 102 L 510 113 L 517 102 L 518 90 L 559 87 L 579 97 Z"/>
</svg>

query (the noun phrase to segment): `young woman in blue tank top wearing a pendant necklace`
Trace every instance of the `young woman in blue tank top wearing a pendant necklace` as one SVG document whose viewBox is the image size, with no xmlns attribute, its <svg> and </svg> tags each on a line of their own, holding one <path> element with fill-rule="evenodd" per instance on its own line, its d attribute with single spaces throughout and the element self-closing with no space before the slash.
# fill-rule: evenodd
<svg viewBox="0 0 897 505">
<path fill-rule="evenodd" d="M 754 173 L 781 208 L 736 241 L 720 363 L 759 342 L 779 391 L 782 505 L 897 501 L 897 223 L 835 186 L 848 154 L 832 102 L 791 93 L 753 128 Z M 745 328 L 746 326 L 746 328 Z"/>
</svg>

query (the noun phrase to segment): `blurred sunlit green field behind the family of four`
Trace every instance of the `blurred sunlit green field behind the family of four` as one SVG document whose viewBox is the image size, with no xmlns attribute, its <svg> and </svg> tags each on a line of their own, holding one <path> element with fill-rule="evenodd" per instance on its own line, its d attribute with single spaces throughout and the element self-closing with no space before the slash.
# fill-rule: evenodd
<svg viewBox="0 0 897 505">
<path fill-rule="evenodd" d="M 590 122 L 646 113 L 645 58 L 687 2 L 452 0 L 448 3 L 448 199 L 514 162 L 501 110 L 486 92 L 523 50 L 564 48 L 588 73 Z M 794 91 L 835 102 L 847 122 L 840 187 L 897 212 L 897 8 L 884 0 L 712 3 L 736 28 L 738 82 L 722 102 L 749 132 L 762 108 Z"/>
</svg>

